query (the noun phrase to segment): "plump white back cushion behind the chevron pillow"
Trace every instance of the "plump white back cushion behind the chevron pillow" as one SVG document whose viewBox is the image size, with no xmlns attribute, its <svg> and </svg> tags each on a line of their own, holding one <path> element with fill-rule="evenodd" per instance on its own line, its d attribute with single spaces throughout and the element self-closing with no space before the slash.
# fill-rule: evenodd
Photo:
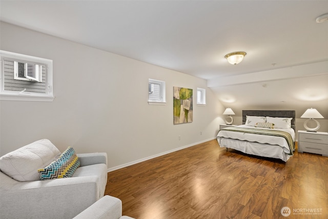
<svg viewBox="0 0 328 219">
<path fill-rule="evenodd" d="M 39 140 L 0 157 L 3 173 L 20 182 L 40 180 L 37 169 L 56 160 L 60 151 L 47 139 Z"/>
</svg>

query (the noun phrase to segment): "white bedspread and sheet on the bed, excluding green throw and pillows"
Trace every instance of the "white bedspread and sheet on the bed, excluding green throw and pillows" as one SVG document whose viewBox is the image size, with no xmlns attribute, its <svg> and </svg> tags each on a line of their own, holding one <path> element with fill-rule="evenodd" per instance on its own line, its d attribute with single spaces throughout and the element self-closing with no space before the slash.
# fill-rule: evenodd
<svg viewBox="0 0 328 219">
<path fill-rule="evenodd" d="M 240 125 L 238 127 L 268 129 L 246 125 Z M 290 133 L 293 138 L 293 141 L 295 142 L 294 129 L 274 130 L 285 131 Z M 290 149 L 287 141 L 285 140 L 285 138 L 279 136 L 240 133 L 234 131 L 224 131 L 224 129 L 222 129 L 217 135 L 217 141 L 220 147 L 232 148 L 244 153 L 258 156 L 279 158 L 284 162 L 286 162 L 291 157 L 291 155 L 288 155 L 290 153 Z"/>
</svg>

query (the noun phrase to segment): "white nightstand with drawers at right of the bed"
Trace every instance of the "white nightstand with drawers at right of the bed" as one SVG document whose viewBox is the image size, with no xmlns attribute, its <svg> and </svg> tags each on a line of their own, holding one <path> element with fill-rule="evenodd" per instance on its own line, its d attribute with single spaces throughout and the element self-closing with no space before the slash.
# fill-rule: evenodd
<svg viewBox="0 0 328 219">
<path fill-rule="evenodd" d="M 298 152 L 328 156 L 328 132 L 298 131 Z"/>
</svg>

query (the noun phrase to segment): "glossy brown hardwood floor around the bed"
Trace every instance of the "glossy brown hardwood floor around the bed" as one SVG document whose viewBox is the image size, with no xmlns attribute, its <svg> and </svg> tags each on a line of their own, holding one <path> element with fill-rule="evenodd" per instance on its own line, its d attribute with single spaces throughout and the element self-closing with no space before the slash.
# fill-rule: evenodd
<svg viewBox="0 0 328 219">
<path fill-rule="evenodd" d="M 212 140 L 109 172 L 105 194 L 138 219 L 328 218 L 327 171 L 325 156 L 295 151 L 284 163 Z"/>
</svg>

